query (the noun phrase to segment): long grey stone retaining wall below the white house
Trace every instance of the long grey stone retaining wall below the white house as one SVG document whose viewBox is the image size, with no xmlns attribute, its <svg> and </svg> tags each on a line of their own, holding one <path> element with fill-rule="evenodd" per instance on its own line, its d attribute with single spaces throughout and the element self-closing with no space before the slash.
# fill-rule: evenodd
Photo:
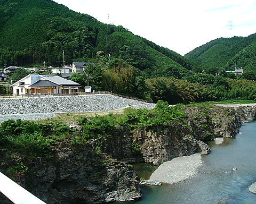
<svg viewBox="0 0 256 204">
<path fill-rule="evenodd" d="M 155 104 L 110 94 L 0 99 L 0 115 L 109 111 L 129 106 L 154 108 Z"/>
</svg>

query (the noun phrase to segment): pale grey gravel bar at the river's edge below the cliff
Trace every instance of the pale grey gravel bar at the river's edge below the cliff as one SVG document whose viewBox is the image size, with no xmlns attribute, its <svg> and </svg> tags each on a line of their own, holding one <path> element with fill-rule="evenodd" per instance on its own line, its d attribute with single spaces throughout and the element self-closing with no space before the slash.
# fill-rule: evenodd
<svg viewBox="0 0 256 204">
<path fill-rule="evenodd" d="M 202 163 L 201 154 L 177 157 L 161 164 L 149 180 L 169 184 L 178 183 L 194 177 L 197 174 L 197 168 Z"/>
</svg>

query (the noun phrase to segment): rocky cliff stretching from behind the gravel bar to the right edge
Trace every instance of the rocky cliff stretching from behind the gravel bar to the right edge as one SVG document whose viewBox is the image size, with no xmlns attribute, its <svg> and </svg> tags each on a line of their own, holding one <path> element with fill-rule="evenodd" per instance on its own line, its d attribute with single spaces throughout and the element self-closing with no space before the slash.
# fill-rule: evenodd
<svg viewBox="0 0 256 204">
<path fill-rule="evenodd" d="M 255 120 L 256 107 L 228 108 L 221 106 L 186 106 L 188 115 L 168 128 L 138 129 L 131 133 L 119 131 L 106 139 L 102 151 L 124 162 L 146 162 L 159 165 L 179 156 L 209 154 L 204 141 L 234 137 L 242 123 Z"/>
</svg>

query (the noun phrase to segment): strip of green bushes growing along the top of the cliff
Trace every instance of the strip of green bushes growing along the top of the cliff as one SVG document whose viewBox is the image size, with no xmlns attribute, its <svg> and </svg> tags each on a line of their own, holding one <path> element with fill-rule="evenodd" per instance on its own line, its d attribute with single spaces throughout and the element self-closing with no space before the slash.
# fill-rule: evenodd
<svg viewBox="0 0 256 204">
<path fill-rule="evenodd" d="M 46 156 L 53 151 L 58 141 L 67 140 L 70 145 L 76 146 L 92 139 L 111 138 L 118 129 L 134 131 L 158 125 L 170 126 L 185 117 L 181 106 L 169 107 L 167 102 L 158 101 L 153 110 L 128 108 L 124 114 L 81 117 L 77 123 L 82 126 L 82 132 L 60 122 L 9 120 L 0 126 L 0 148 L 28 157 Z"/>
</svg>

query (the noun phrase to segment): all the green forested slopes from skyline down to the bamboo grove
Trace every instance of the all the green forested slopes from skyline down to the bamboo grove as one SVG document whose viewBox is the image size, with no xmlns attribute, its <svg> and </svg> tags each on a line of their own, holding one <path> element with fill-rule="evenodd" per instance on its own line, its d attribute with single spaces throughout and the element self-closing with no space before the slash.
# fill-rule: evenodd
<svg viewBox="0 0 256 204">
<path fill-rule="evenodd" d="M 183 57 L 51 0 L 0 0 L 0 13 L 0 68 L 4 61 L 6 66 L 62 66 L 64 50 L 65 64 L 97 65 L 86 68 L 94 90 L 170 104 L 256 100 L 256 34 L 215 39 Z M 227 74 L 235 64 L 247 73 Z M 87 75 L 76 73 L 71 80 L 86 86 Z"/>
</svg>

